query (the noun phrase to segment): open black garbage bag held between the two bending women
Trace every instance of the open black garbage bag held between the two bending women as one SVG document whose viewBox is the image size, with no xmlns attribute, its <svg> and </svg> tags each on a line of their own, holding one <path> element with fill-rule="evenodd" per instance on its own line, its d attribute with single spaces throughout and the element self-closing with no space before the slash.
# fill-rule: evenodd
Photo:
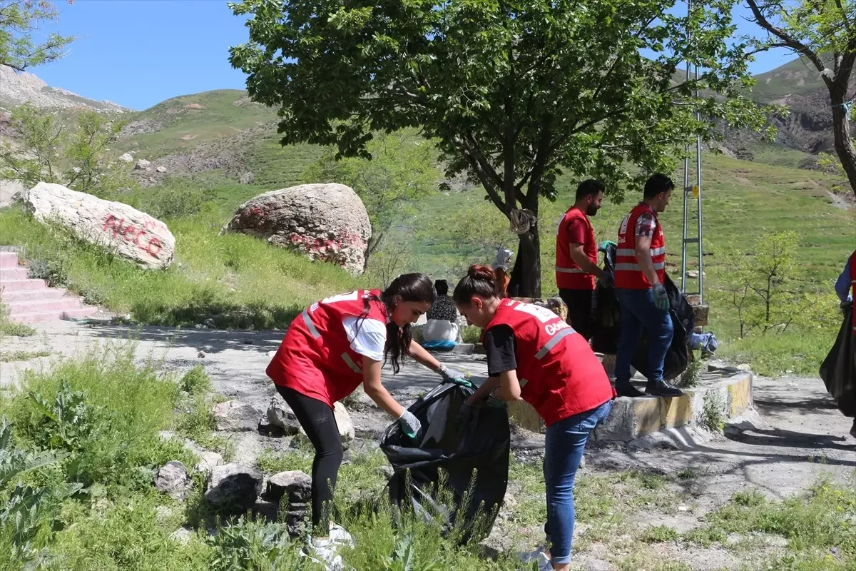
<svg viewBox="0 0 856 571">
<path fill-rule="evenodd" d="M 465 404 L 473 392 L 469 384 L 440 384 L 407 409 L 422 423 L 415 439 L 395 423 L 380 441 L 394 469 L 390 499 L 443 519 L 446 532 L 460 529 L 461 543 L 490 533 L 505 497 L 511 449 L 508 408 Z"/>
</svg>

